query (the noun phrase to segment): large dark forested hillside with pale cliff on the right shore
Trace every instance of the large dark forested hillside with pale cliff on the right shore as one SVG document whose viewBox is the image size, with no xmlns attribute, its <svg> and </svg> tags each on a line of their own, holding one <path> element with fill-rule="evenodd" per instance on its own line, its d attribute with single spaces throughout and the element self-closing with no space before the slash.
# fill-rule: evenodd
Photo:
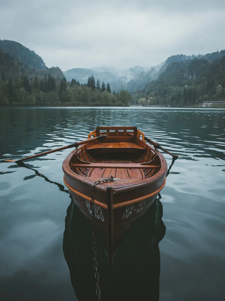
<svg viewBox="0 0 225 301">
<path fill-rule="evenodd" d="M 225 96 L 225 56 L 212 62 L 189 59 L 169 64 L 158 79 L 133 96 L 150 100 L 150 104 L 189 106 L 199 101 L 219 100 Z M 141 100 L 141 104 L 145 104 Z"/>
</svg>

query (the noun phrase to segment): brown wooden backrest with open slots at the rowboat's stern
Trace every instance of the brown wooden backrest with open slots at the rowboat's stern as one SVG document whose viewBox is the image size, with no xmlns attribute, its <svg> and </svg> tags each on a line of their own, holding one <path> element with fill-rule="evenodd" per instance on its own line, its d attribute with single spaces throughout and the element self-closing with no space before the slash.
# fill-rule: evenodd
<svg viewBox="0 0 225 301">
<path fill-rule="evenodd" d="M 133 136 L 133 142 L 136 142 L 137 126 L 97 126 L 96 136 L 100 136 L 100 131 L 106 132 L 108 136 Z M 129 131 L 129 132 L 128 132 Z"/>
</svg>

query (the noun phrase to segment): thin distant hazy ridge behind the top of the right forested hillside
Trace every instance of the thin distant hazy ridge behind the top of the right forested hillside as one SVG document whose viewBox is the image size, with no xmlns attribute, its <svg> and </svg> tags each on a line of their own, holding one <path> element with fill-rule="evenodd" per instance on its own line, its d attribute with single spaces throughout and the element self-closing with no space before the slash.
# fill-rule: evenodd
<svg viewBox="0 0 225 301">
<path fill-rule="evenodd" d="M 218 58 L 223 57 L 224 55 L 225 55 L 225 50 L 221 50 L 220 52 L 217 50 L 216 52 L 207 53 L 207 54 L 198 54 L 198 55 L 177 54 L 177 55 L 172 55 L 171 57 L 168 57 L 166 60 L 166 64 L 186 61 L 189 59 L 193 60 L 194 58 L 205 59 L 209 62 L 212 62 L 214 60 L 217 60 Z"/>
</svg>

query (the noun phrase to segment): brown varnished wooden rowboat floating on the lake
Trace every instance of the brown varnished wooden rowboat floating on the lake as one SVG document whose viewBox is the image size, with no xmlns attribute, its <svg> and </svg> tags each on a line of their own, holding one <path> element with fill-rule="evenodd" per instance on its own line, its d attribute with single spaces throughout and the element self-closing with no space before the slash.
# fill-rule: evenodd
<svg viewBox="0 0 225 301">
<path fill-rule="evenodd" d="M 108 254 L 109 265 L 125 232 L 152 205 L 166 182 L 163 155 L 146 143 L 134 126 L 98 126 L 91 136 L 101 141 L 80 145 L 64 160 L 64 183 L 82 213 L 92 219 L 94 187 L 95 228 Z M 93 191 L 93 190 L 92 190 Z"/>
</svg>

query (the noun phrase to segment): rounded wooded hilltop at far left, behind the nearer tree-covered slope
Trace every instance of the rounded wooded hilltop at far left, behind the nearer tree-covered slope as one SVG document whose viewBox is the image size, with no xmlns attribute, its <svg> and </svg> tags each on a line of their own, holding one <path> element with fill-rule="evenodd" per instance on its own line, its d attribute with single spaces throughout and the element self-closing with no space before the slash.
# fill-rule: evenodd
<svg viewBox="0 0 225 301">
<path fill-rule="evenodd" d="M 35 53 L 35 51 L 23 46 L 22 44 L 10 41 L 10 40 L 0 40 L 0 49 L 4 52 L 9 53 L 17 61 L 23 64 L 34 67 L 37 69 L 44 69 L 46 65 L 43 59 Z"/>
</svg>

